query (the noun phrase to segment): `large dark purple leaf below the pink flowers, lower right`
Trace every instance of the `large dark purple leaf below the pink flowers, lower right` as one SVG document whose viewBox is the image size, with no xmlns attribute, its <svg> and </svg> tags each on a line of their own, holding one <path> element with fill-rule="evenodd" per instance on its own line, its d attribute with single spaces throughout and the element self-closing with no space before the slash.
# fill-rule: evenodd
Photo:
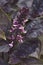
<svg viewBox="0 0 43 65">
<path fill-rule="evenodd" d="M 23 58 L 28 58 L 30 54 L 32 54 L 33 52 L 35 52 L 36 48 L 39 47 L 40 41 L 36 38 L 36 39 L 30 39 L 30 40 L 26 40 L 22 43 L 19 44 L 19 46 L 17 47 L 16 50 L 14 50 L 13 54 L 13 58 L 15 58 L 15 56 L 18 59 L 23 59 Z M 15 52 L 16 51 L 16 52 Z"/>
</svg>

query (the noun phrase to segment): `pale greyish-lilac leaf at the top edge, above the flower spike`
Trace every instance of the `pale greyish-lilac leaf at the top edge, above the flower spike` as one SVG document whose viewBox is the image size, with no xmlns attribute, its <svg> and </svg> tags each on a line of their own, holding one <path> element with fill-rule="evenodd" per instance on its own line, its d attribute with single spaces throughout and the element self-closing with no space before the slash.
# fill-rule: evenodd
<svg viewBox="0 0 43 65">
<path fill-rule="evenodd" d="M 33 0 L 19 0 L 17 5 L 20 8 L 22 8 L 22 7 L 30 8 L 32 6 L 32 2 L 33 2 Z"/>
</svg>

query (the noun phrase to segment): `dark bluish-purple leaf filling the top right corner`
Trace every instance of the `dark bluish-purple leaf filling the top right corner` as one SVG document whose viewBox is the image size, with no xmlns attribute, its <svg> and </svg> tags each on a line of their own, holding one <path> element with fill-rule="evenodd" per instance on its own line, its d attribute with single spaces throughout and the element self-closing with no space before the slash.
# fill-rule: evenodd
<svg viewBox="0 0 43 65">
<path fill-rule="evenodd" d="M 32 17 L 37 17 L 39 15 L 42 15 L 43 12 L 43 0 L 33 0 L 32 4 Z"/>
</svg>

